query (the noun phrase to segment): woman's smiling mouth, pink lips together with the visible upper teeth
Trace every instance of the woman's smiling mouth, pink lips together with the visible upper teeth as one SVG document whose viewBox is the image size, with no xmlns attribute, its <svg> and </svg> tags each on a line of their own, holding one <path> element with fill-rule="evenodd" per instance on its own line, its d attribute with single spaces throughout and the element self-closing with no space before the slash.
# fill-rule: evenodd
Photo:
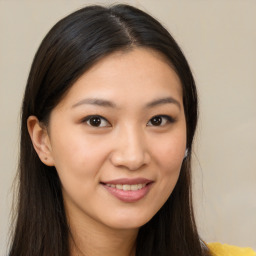
<svg viewBox="0 0 256 256">
<path fill-rule="evenodd" d="M 123 202 L 136 202 L 143 199 L 153 184 L 152 180 L 138 179 L 118 179 L 101 182 L 101 185 L 114 197 Z"/>
</svg>

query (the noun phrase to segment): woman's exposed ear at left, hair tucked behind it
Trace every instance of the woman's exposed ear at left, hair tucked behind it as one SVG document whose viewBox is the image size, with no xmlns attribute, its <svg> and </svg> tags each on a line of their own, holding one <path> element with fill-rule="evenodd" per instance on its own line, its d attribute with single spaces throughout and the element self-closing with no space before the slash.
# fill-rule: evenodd
<svg viewBox="0 0 256 256">
<path fill-rule="evenodd" d="M 27 128 L 40 160 L 48 166 L 54 166 L 50 138 L 45 126 L 43 126 L 36 116 L 30 116 L 27 120 Z"/>
</svg>

